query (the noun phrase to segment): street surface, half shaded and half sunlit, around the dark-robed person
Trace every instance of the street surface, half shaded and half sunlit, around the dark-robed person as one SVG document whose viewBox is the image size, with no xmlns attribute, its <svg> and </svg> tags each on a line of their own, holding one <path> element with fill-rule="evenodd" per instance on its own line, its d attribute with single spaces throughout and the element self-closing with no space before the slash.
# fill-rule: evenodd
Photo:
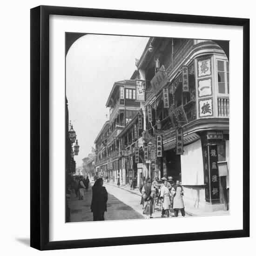
<svg viewBox="0 0 256 256">
<path fill-rule="evenodd" d="M 92 200 L 92 185 L 88 191 L 84 191 L 84 199 L 79 200 L 75 193 L 71 194 L 69 207 L 71 209 L 71 222 L 93 221 L 93 213 L 90 210 Z M 141 197 L 124 189 L 112 185 L 104 185 L 108 191 L 107 212 L 105 220 L 143 219 Z M 114 196 L 115 195 L 115 196 Z"/>
</svg>

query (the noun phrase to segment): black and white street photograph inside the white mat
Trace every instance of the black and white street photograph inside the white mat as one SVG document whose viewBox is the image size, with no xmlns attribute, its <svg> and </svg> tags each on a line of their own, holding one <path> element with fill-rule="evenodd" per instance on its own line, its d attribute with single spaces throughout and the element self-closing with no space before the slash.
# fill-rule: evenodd
<svg viewBox="0 0 256 256">
<path fill-rule="evenodd" d="M 229 215 L 229 41 L 63 43 L 66 222 Z"/>
</svg>

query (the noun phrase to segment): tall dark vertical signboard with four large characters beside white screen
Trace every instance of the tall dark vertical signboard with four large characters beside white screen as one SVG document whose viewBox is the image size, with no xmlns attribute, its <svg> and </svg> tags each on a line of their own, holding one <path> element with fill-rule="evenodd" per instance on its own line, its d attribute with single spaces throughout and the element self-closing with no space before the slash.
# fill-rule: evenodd
<svg viewBox="0 0 256 256">
<path fill-rule="evenodd" d="M 210 193 L 211 200 L 218 200 L 220 198 L 220 188 L 219 188 L 219 172 L 218 172 L 218 154 L 217 146 L 209 146 L 209 158 L 210 158 Z"/>
</svg>

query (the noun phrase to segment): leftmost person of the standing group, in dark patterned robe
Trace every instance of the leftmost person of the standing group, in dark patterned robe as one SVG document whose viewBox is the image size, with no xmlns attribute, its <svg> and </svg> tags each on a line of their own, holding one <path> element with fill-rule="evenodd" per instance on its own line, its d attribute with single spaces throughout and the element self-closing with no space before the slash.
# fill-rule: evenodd
<svg viewBox="0 0 256 256">
<path fill-rule="evenodd" d="M 143 214 L 146 215 L 146 218 L 153 218 L 152 214 L 155 212 L 155 189 L 152 185 L 151 179 L 147 178 L 146 183 L 141 189 L 142 197 L 144 198 L 143 203 Z"/>
</svg>

